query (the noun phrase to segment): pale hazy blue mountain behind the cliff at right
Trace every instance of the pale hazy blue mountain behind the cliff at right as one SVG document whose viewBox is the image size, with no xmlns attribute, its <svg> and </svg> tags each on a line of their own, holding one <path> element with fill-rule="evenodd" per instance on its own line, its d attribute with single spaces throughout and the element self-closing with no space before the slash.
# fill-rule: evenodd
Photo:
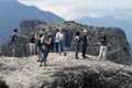
<svg viewBox="0 0 132 88">
<path fill-rule="evenodd" d="M 128 41 L 132 43 L 132 22 L 121 21 L 113 16 L 100 16 L 100 18 L 89 18 L 84 16 L 78 20 L 76 20 L 78 23 L 88 24 L 88 25 L 95 25 L 95 26 L 116 26 L 120 28 L 125 32 L 125 35 L 128 37 Z"/>
</svg>

